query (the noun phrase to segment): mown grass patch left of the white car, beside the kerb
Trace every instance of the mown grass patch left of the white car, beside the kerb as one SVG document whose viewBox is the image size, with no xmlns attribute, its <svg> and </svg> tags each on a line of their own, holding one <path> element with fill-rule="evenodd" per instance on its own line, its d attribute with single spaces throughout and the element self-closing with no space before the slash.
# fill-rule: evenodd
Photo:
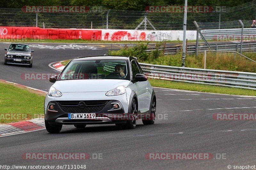
<svg viewBox="0 0 256 170">
<path fill-rule="evenodd" d="M 44 95 L 0 82 L 0 106 L 0 123 L 29 120 L 44 115 Z M 22 114 L 23 118 L 9 119 L 5 114 Z"/>
</svg>

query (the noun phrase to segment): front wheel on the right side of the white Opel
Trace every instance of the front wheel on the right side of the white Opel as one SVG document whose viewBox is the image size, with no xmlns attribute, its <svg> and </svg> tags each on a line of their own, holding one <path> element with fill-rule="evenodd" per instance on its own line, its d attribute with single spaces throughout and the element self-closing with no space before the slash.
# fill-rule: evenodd
<svg viewBox="0 0 256 170">
<path fill-rule="evenodd" d="M 130 114 L 128 115 L 129 115 L 129 118 L 130 117 L 132 118 L 132 120 L 126 121 L 126 123 L 122 126 L 123 129 L 134 129 L 136 127 L 138 107 L 135 99 L 132 99 Z"/>
</svg>

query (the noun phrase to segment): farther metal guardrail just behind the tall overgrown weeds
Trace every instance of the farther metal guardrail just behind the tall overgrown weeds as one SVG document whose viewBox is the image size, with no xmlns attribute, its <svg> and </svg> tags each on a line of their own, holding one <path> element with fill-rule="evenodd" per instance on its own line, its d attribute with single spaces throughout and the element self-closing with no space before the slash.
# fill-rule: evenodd
<svg viewBox="0 0 256 170">
<path fill-rule="evenodd" d="M 209 44 L 212 50 L 224 50 L 224 51 L 239 51 L 241 43 L 228 43 L 228 44 Z M 198 46 L 198 52 L 204 52 L 204 50 L 208 50 L 207 45 L 200 45 Z M 156 50 L 156 48 L 148 48 L 146 51 L 151 52 Z M 159 48 L 159 50 L 164 51 L 164 55 L 168 54 L 177 54 L 182 51 L 182 46 L 178 47 L 166 47 L 166 48 Z M 256 52 L 256 42 L 243 42 L 242 46 L 243 52 Z M 187 46 L 187 54 L 195 54 L 196 53 L 196 44 Z"/>
</svg>

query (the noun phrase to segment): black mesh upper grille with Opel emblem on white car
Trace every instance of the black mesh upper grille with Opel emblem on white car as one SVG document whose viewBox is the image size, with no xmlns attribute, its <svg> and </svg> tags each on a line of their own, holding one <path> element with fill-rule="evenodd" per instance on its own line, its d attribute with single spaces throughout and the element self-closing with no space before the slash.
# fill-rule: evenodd
<svg viewBox="0 0 256 170">
<path fill-rule="evenodd" d="M 80 101 L 58 101 L 60 108 L 67 113 L 95 113 L 101 111 L 108 100 L 90 100 L 83 101 L 85 103 L 84 108 L 78 107 Z"/>
</svg>

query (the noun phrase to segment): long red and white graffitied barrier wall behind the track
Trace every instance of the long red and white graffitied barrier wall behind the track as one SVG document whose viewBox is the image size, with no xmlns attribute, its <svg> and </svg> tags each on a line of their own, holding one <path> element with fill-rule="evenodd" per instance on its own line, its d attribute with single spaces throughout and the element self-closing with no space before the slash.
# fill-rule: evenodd
<svg viewBox="0 0 256 170">
<path fill-rule="evenodd" d="M 0 26 L 0 39 L 102 40 L 102 41 L 175 41 L 183 39 L 182 30 L 55 29 Z M 196 31 L 187 31 L 196 40 Z"/>
</svg>

